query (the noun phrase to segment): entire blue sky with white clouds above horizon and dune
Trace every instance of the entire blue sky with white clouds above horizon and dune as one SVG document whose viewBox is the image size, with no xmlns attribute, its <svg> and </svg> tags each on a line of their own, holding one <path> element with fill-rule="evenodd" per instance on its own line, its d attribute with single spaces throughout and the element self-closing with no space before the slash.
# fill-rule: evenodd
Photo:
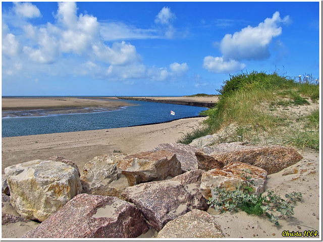
<svg viewBox="0 0 323 242">
<path fill-rule="evenodd" d="M 217 94 L 320 76 L 319 2 L 2 3 L 2 95 Z"/>
</svg>

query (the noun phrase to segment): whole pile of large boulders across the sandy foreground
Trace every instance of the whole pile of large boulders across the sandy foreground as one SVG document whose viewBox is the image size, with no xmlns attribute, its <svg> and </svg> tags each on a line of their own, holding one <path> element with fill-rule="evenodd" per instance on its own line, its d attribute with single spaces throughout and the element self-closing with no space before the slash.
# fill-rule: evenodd
<svg viewBox="0 0 323 242">
<path fill-rule="evenodd" d="M 84 166 L 80 180 L 77 169 L 71 162 L 70 165 L 60 161 L 26 162 L 15 169 L 6 168 L 9 189 L 12 190 L 11 203 L 20 216 L 28 219 L 35 219 L 36 216 L 25 216 L 25 212 L 20 211 L 22 206 L 16 205 L 17 201 L 25 197 L 35 197 L 37 202 L 29 202 L 30 204 L 34 203 L 34 206 L 50 211 L 46 217 L 37 215 L 36 219 L 43 222 L 24 235 L 28 238 L 126 238 L 138 237 L 149 228 L 158 232 L 156 236 L 160 238 L 222 238 L 224 234 L 214 216 L 205 212 L 212 190 L 216 187 L 234 189 L 235 184 L 244 182 L 243 174 L 248 170 L 252 173 L 250 179 L 254 184 L 253 193 L 260 194 L 264 191 L 267 173 L 282 170 L 301 159 L 290 148 L 286 148 L 287 152 L 283 148 L 241 146 L 241 143 L 232 143 L 198 149 L 183 144 L 161 144 L 151 151 L 133 155 L 107 154 L 89 161 Z M 204 154 L 204 158 L 201 158 L 201 154 Z M 245 156 L 249 158 L 246 159 Z M 63 158 L 57 159 L 66 160 Z M 85 194 L 74 195 L 65 204 L 54 202 L 51 200 L 53 195 L 68 189 L 57 189 L 56 179 L 48 178 L 46 182 L 38 181 L 46 184 L 42 193 L 46 194 L 47 200 L 40 198 L 37 191 L 41 186 L 36 186 L 36 181 L 25 186 L 20 180 L 25 180 L 32 173 L 36 174 L 33 176 L 39 176 L 40 171 L 32 170 L 41 162 L 46 164 L 48 174 L 55 174 L 63 180 L 66 175 L 62 171 L 73 171 L 72 176 L 79 181 L 69 183 L 78 184 L 73 194 L 80 193 L 81 182 Z M 46 172 L 43 171 L 44 174 Z M 26 192 L 17 192 L 21 190 L 27 191 L 28 196 Z M 68 191 L 71 193 L 72 189 Z M 4 196 L 3 201 L 10 198 L 3 194 Z M 36 211 L 32 209 L 34 210 Z M 5 218 L 19 220 L 8 215 Z"/>
</svg>

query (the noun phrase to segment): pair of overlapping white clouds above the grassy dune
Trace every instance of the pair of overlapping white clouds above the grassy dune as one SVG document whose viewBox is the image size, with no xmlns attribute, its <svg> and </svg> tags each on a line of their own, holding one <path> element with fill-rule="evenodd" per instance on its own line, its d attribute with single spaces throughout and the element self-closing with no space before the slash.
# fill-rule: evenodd
<svg viewBox="0 0 323 242">
<path fill-rule="evenodd" d="M 279 12 L 266 18 L 256 27 L 248 25 L 239 32 L 226 34 L 219 45 L 222 57 L 206 56 L 203 67 L 209 72 L 232 73 L 246 67 L 242 60 L 263 60 L 270 57 L 269 44 L 282 34 L 280 23 L 288 24 L 289 16 L 281 19 Z"/>
</svg>

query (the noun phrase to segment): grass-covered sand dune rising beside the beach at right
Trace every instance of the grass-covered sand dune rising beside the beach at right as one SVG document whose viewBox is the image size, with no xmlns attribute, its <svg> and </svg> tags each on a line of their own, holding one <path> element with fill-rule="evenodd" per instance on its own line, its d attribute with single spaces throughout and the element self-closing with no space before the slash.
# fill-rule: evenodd
<svg viewBox="0 0 323 242">
<path fill-rule="evenodd" d="M 254 71 L 230 76 L 218 91 L 216 106 L 201 112 L 207 115 L 202 126 L 177 142 L 189 144 L 195 138 L 217 134 L 214 144 L 243 141 L 318 150 L 318 105 L 313 112 L 299 111 L 318 102 L 316 83 Z"/>
</svg>

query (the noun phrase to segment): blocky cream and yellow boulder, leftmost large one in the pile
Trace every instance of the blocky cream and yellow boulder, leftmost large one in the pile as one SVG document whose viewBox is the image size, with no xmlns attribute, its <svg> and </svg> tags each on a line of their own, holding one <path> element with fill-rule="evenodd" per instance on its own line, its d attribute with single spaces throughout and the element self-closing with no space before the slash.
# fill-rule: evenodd
<svg viewBox="0 0 323 242">
<path fill-rule="evenodd" d="M 24 218 L 44 221 L 82 192 L 77 170 L 63 162 L 32 160 L 5 168 L 11 204 Z"/>
</svg>

